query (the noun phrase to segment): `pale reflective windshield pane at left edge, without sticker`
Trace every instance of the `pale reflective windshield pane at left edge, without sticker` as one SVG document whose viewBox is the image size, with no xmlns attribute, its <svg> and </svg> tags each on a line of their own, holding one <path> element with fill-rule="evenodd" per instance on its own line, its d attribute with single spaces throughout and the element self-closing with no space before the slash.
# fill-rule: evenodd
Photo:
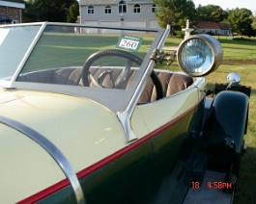
<svg viewBox="0 0 256 204">
<path fill-rule="evenodd" d="M 0 27 L 0 79 L 11 80 L 40 26 Z"/>
</svg>

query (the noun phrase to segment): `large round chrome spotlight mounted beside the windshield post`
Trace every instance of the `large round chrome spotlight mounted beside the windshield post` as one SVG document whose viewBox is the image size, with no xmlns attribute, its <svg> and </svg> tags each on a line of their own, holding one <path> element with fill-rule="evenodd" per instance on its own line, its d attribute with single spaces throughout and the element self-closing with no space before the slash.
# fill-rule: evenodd
<svg viewBox="0 0 256 204">
<path fill-rule="evenodd" d="M 209 35 L 194 35 L 181 42 L 178 64 L 190 76 L 205 76 L 221 64 L 223 50 L 219 41 Z"/>
</svg>

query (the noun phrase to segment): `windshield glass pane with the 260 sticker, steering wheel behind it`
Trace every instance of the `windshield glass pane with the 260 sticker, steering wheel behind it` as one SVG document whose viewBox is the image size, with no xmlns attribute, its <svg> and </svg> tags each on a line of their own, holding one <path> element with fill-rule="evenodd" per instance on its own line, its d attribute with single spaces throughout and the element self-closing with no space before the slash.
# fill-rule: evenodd
<svg viewBox="0 0 256 204">
<path fill-rule="evenodd" d="M 156 32 L 47 25 L 17 81 L 128 89 Z"/>
</svg>

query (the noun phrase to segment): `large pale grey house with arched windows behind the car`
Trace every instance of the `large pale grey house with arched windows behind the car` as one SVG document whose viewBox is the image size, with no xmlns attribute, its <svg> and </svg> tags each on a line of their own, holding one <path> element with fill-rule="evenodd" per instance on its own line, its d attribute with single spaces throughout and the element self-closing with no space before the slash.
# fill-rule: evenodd
<svg viewBox="0 0 256 204">
<path fill-rule="evenodd" d="M 80 0 L 79 5 L 82 24 L 159 28 L 153 0 Z"/>
</svg>

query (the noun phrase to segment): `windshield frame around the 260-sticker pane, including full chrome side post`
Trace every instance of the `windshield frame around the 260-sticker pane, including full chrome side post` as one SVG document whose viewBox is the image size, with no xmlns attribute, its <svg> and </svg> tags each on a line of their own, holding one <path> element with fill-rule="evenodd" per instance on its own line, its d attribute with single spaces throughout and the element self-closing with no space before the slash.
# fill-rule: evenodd
<svg viewBox="0 0 256 204">
<path fill-rule="evenodd" d="M 127 136 L 127 142 L 137 140 L 137 136 L 133 133 L 131 127 L 131 117 L 137 105 L 137 101 L 146 86 L 148 79 L 151 76 L 153 68 L 156 64 L 157 53 L 162 52 L 162 47 L 165 43 L 166 38 L 170 33 L 170 26 L 163 29 L 140 29 L 140 28 L 128 28 L 128 27 L 104 27 L 104 26 L 86 26 L 82 24 L 67 24 L 67 23 L 39 23 L 42 25 L 40 32 L 31 43 L 28 51 L 26 52 L 21 63 L 18 65 L 14 77 L 11 80 L 10 87 L 6 89 L 26 89 L 26 90 L 38 90 L 45 92 L 61 93 L 66 95 L 72 95 L 76 97 L 84 97 L 88 100 L 99 103 L 104 108 L 117 115 L 117 118 L 121 122 L 124 132 Z M 156 32 L 155 39 L 153 40 L 149 51 L 137 70 L 135 77 L 131 83 L 129 89 L 97 89 L 90 87 L 81 86 L 69 86 L 69 85 L 58 85 L 58 84 L 44 84 L 44 83 L 31 83 L 31 82 L 19 82 L 17 81 L 19 74 L 21 74 L 22 68 L 28 61 L 33 49 L 37 45 L 40 38 L 43 36 L 43 31 L 47 25 L 60 25 L 60 26 L 72 26 L 72 27 L 85 27 L 85 28 L 97 28 L 97 29 L 118 29 L 118 30 L 129 30 L 139 32 Z M 18 26 L 18 25 L 17 25 Z M 24 26 L 24 25 L 23 25 Z M 117 100 L 118 98 L 118 100 Z"/>
</svg>

